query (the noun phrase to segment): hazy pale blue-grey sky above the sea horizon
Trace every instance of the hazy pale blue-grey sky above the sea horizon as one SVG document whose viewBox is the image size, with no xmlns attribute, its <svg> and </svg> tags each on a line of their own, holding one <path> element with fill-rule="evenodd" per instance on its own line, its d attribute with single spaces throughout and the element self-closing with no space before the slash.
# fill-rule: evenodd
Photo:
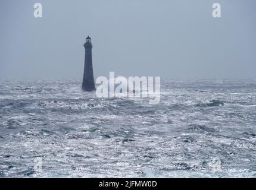
<svg viewBox="0 0 256 190">
<path fill-rule="evenodd" d="M 255 0 L 0 0 L 0 24 L 0 79 L 81 79 L 88 35 L 95 77 L 256 78 Z"/>
</svg>

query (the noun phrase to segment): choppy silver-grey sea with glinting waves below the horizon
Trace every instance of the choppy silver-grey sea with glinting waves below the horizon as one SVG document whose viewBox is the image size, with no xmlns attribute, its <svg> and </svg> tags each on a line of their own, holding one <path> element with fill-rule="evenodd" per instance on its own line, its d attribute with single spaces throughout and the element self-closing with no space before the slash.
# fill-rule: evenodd
<svg viewBox="0 0 256 190">
<path fill-rule="evenodd" d="M 161 102 L 81 80 L 0 81 L 0 178 L 255 178 L 256 81 L 161 80 Z"/>
</svg>

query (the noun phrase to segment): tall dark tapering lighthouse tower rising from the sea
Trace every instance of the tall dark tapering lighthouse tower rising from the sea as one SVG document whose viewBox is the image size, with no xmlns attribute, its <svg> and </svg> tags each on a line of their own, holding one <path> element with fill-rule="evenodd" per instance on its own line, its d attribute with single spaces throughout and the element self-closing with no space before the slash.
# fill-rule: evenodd
<svg viewBox="0 0 256 190">
<path fill-rule="evenodd" d="M 95 90 L 95 83 L 92 69 L 92 42 L 90 37 L 86 37 L 85 47 L 85 69 L 83 71 L 83 91 Z"/>
</svg>

